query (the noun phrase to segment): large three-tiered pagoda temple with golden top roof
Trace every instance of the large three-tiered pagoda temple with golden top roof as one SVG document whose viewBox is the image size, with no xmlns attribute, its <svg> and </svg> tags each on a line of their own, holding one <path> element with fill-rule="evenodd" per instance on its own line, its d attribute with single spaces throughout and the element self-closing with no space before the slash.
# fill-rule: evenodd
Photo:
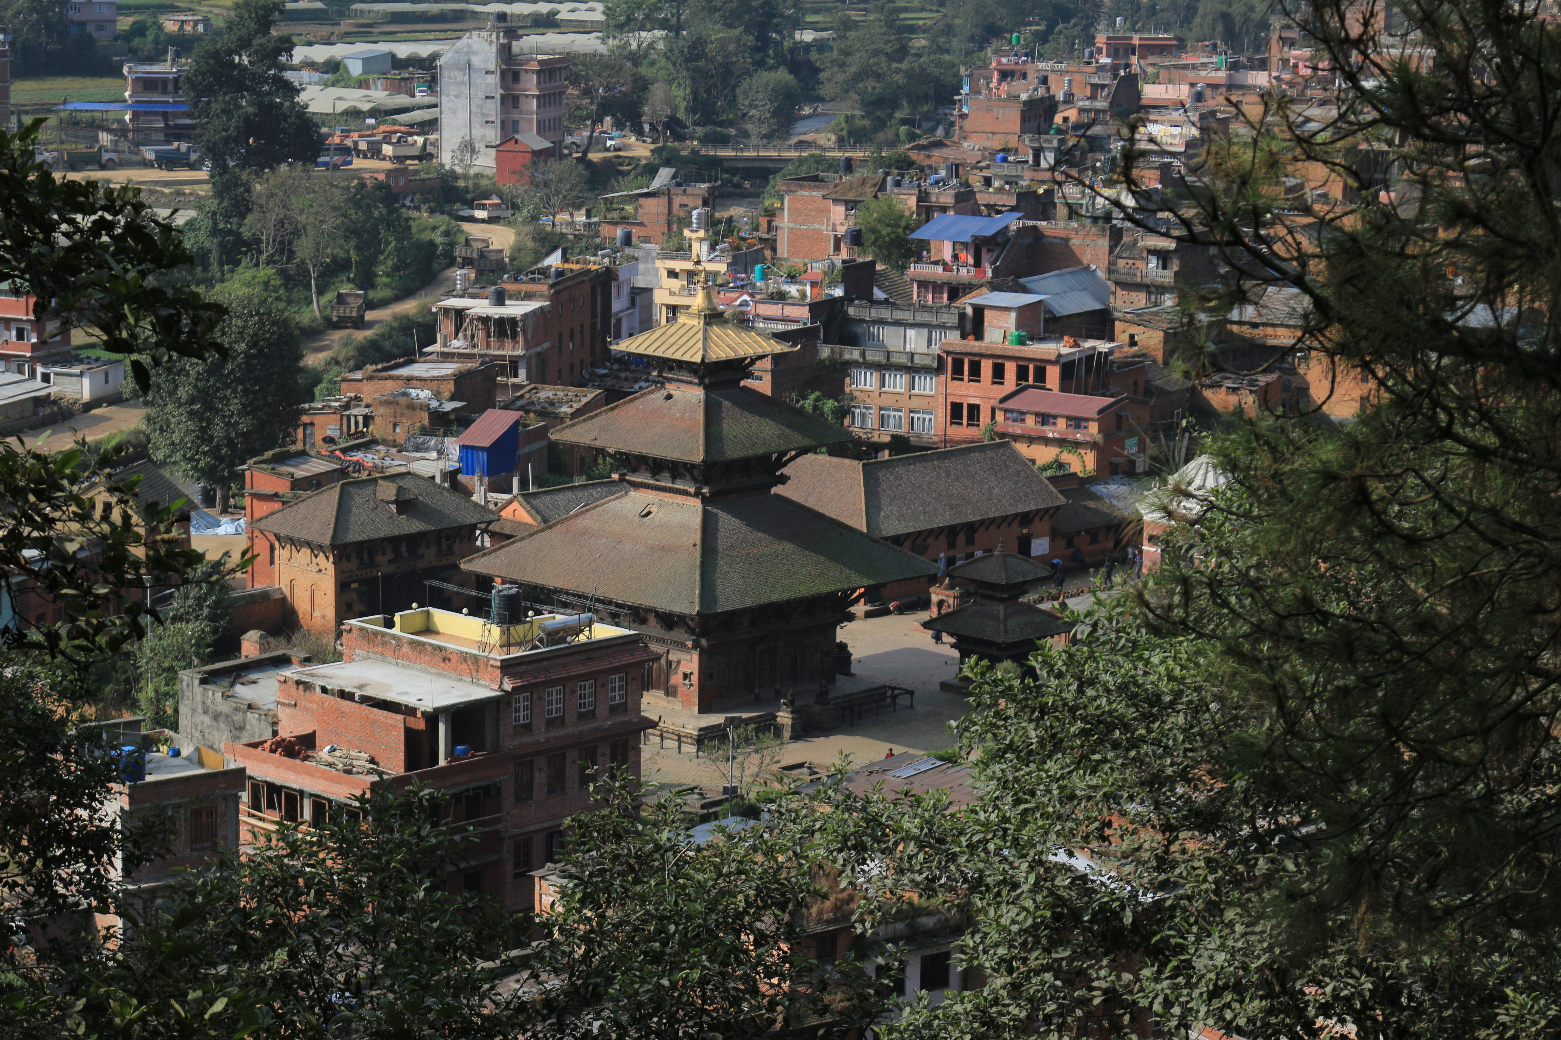
<svg viewBox="0 0 1561 1040">
<path fill-rule="evenodd" d="M 526 599 L 590 610 L 660 650 L 648 689 L 688 711 L 791 697 L 835 681 L 835 628 L 868 586 L 937 568 L 771 491 L 798 457 L 849 441 L 832 423 L 745 385 L 798 348 L 734 324 L 709 281 L 676 321 L 615 349 L 665 385 L 553 430 L 610 455 L 621 493 L 462 561 Z"/>
</svg>

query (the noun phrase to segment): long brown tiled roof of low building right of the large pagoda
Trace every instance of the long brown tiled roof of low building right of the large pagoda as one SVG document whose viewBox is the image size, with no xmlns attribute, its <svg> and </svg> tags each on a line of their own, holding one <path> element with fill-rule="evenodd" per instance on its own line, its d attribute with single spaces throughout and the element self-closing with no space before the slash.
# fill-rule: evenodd
<svg viewBox="0 0 1561 1040">
<path fill-rule="evenodd" d="M 802 455 L 785 472 L 791 480 L 780 494 L 874 538 L 1063 504 L 1051 482 L 1010 441 L 869 462 Z"/>
</svg>

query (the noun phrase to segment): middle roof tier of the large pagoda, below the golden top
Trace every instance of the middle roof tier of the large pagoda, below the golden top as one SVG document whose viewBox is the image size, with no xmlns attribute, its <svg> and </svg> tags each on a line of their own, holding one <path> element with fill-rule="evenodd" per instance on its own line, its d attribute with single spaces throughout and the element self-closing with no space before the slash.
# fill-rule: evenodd
<svg viewBox="0 0 1561 1040">
<path fill-rule="evenodd" d="M 834 423 L 748 387 L 704 390 L 667 384 L 565 423 L 553 440 L 634 451 L 677 462 L 729 462 L 840 444 L 851 433 Z"/>
</svg>

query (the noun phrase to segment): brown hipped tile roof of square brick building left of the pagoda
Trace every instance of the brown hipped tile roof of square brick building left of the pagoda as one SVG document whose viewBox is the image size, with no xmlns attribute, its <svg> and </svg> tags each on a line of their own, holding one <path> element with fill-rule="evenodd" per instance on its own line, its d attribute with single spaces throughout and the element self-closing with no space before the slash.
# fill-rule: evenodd
<svg viewBox="0 0 1561 1040">
<path fill-rule="evenodd" d="M 395 496 L 387 501 L 381 496 Z M 396 505 L 401 511 L 396 511 Z M 415 472 L 342 480 L 254 521 L 254 530 L 317 546 L 487 524 L 498 515 Z"/>
</svg>

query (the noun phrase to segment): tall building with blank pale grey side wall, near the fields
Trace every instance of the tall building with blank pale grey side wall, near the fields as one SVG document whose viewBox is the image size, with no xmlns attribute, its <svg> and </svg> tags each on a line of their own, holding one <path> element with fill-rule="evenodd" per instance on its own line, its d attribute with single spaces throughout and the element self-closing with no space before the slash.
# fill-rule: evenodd
<svg viewBox="0 0 1561 1040">
<path fill-rule="evenodd" d="M 454 165 L 464 142 L 478 145 L 478 167 L 496 168 L 495 148 L 512 137 L 540 137 L 559 157 L 568 55 L 528 53 L 526 37 L 503 25 L 451 44 L 439 58 L 439 161 Z"/>
</svg>

